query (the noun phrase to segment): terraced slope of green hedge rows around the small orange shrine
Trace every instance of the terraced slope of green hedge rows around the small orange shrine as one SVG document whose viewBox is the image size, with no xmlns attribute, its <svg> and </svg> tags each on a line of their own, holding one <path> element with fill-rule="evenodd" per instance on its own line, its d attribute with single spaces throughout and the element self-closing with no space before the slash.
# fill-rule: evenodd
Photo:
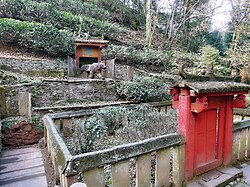
<svg viewBox="0 0 250 187">
<path fill-rule="evenodd" d="M 103 51 L 104 58 L 116 58 L 117 62 L 142 68 L 150 66 L 154 70 L 159 67 L 161 71 L 170 70 L 182 56 L 193 58 L 182 51 L 176 53 L 163 49 L 161 33 L 155 35 L 157 39 L 153 48 L 145 48 L 143 21 L 141 29 L 132 29 L 129 24 L 130 27 L 125 27 L 119 24 L 117 12 L 113 9 L 104 10 L 91 2 L 79 0 L 4 0 L 0 7 L 0 38 L 4 45 L 14 45 L 22 54 L 32 52 L 65 58 L 74 52 L 74 38 L 90 32 L 92 36 L 103 35 L 110 40 L 111 45 Z M 127 19 L 132 18 L 134 20 L 134 17 Z"/>
</svg>

